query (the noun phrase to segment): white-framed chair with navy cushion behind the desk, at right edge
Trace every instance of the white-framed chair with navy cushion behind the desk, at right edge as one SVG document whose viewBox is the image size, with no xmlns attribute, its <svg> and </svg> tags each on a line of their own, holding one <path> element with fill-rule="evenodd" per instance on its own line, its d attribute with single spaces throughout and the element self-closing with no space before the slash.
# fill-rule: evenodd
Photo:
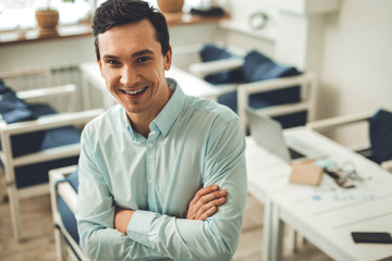
<svg viewBox="0 0 392 261">
<path fill-rule="evenodd" d="M 392 112 L 384 109 L 376 113 L 357 113 L 309 122 L 306 127 L 321 134 L 345 126 L 368 125 L 367 141 L 350 148 L 392 172 Z M 356 132 L 358 133 L 358 132 Z"/>
</svg>

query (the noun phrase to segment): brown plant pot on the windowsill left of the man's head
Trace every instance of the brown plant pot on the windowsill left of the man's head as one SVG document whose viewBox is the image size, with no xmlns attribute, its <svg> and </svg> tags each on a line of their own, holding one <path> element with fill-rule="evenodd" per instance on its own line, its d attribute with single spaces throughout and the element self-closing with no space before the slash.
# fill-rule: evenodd
<svg viewBox="0 0 392 261">
<path fill-rule="evenodd" d="M 59 24 L 59 12 L 53 9 L 42 9 L 36 11 L 36 20 L 40 35 L 57 34 Z"/>
</svg>

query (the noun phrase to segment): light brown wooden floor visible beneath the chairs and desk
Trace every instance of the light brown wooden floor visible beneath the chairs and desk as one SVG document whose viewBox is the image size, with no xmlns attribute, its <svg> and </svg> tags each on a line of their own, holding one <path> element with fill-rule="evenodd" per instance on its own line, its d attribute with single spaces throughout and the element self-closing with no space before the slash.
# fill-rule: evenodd
<svg viewBox="0 0 392 261">
<path fill-rule="evenodd" d="M 16 243 L 12 236 L 8 202 L 0 203 L 0 260 L 46 261 L 56 260 L 53 225 L 49 195 L 25 199 L 21 202 L 25 240 Z M 235 261 L 261 260 L 262 204 L 248 197 L 240 246 Z M 298 252 L 285 250 L 284 260 L 323 261 L 331 260 L 310 243 L 302 245 Z"/>
</svg>

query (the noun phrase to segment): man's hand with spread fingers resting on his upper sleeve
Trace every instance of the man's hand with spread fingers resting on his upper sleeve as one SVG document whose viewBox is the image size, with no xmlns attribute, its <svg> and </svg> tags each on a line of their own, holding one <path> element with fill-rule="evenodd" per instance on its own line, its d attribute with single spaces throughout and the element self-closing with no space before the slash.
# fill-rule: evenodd
<svg viewBox="0 0 392 261">
<path fill-rule="evenodd" d="M 205 221 L 213 215 L 218 207 L 225 203 L 228 191 L 219 189 L 217 185 L 200 188 L 188 204 L 187 220 Z"/>
</svg>

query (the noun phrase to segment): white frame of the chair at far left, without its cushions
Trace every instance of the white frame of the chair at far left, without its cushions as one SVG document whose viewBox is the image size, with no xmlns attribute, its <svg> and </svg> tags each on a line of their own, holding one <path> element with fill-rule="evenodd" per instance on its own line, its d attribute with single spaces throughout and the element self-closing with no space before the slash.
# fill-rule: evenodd
<svg viewBox="0 0 392 261">
<path fill-rule="evenodd" d="M 76 90 L 77 89 L 75 85 L 64 85 L 42 89 L 17 91 L 16 95 L 19 98 L 24 99 L 27 103 L 37 98 L 41 99 L 61 96 L 62 98 L 69 99 L 68 104 L 69 108 L 72 109 L 75 105 Z M 98 116 L 102 112 L 102 109 L 96 109 L 89 111 L 57 113 L 41 116 L 35 121 L 26 121 L 13 124 L 7 124 L 0 117 L 0 138 L 2 145 L 2 149 L 0 151 L 0 159 L 3 163 L 3 173 L 5 176 L 5 185 L 10 202 L 13 234 L 17 240 L 23 239 L 20 200 L 48 194 L 49 185 L 40 184 L 19 189 L 15 184 L 15 167 L 78 156 L 81 148 L 79 144 L 74 144 L 14 158 L 12 153 L 11 136 L 68 125 L 74 125 L 81 128 L 84 126 L 84 124 Z M 1 195 L 1 190 L 0 196 L 1 198 L 3 198 Z"/>
</svg>

